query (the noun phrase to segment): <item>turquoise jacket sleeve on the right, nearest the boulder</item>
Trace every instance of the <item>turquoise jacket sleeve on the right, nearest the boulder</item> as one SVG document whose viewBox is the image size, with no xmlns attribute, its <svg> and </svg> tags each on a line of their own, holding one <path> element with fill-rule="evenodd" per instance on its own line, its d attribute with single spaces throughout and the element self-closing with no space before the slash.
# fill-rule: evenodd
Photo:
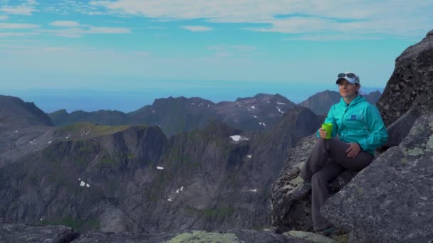
<svg viewBox="0 0 433 243">
<path fill-rule="evenodd" d="M 365 121 L 370 130 L 370 134 L 358 141 L 362 150 L 375 150 L 388 140 L 388 131 L 383 123 L 380 112 L 373 105 L 367 107 L 365 111 Z"/>
</svg>

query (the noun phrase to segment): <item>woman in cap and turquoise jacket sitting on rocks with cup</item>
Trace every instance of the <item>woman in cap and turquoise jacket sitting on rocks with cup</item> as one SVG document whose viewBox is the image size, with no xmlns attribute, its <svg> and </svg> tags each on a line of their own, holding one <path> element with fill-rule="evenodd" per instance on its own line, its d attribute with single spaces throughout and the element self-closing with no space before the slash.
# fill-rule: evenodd
<svg viewBox="0 0 433 243">
<path fill-rule="evenodd" d="M 331 139 L 318 130 L 318 142 L 301 170 L 303 183 L 292 193 L 294 200 L 306 198 L 312 189 L 313 228 L 331 234 L 334 227 L 320 215 L 320 207 L 329 198 L 328 183 L 346 169 L 360 171 L 372 162 L 374 151 L 387 141 L 388 133 L 379 111 L 358 94 L 360 78 L 353 72 L 338 75 L 341 99 L 325 119 L 333 124 Z"/>
</svg>

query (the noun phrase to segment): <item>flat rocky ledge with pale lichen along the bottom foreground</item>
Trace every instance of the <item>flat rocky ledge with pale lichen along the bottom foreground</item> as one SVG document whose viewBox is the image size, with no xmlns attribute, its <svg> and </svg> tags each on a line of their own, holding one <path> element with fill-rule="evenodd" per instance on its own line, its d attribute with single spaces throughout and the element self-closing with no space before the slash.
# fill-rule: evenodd
<svg viewBox="0 0 433 243">
<path fill-rule="evenodd" d="M 94 242 L 257 242 L 257 243 L 311 243 L 311 242 L 333 242 L 330 239 L 320 241 L 320 236 L 314 239 L 314 236 L 293 234 L 275 234 L 273 232 L 238 229 L 226 232 L 204 232 L 189 231 L 179 234 L 136 234 L 123 232 L 115 234 L 113 232 L 91 231 L 80 234 L 70 227 L 63 225 L 34 226 L 24 224 L 0 223 L 0 242 L 7 243 L 26 243 L 26 242 L 43 242 L 43 243 L 94 243 Z M 307 239 L 302 239 L 307 238 Z M 308 240 L 308 238 L 313 239 Z"/>
</svg>

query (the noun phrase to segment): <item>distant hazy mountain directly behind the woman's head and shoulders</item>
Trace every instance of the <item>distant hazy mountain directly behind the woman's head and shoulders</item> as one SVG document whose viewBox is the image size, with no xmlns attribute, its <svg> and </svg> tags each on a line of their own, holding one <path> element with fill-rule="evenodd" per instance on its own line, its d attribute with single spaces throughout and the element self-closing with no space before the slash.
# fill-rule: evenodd
<svg viewBox="0 0 433 243">
<path fill-rule="evenodd" d="M 362 97 L 365 97 L 365 100 L 370 102 L 370 104 L 376 104 L 380 98 L 380 92 L 371 92 L 368 95 L 362 95 Z M 311 109 L 315 114 L 326 115 L 333 104 L 340 102 L 340 98 L 339 92 L 325 90 L 308 97 L 308 99 L 299 103 L 299 105 Z"/>
</svg>

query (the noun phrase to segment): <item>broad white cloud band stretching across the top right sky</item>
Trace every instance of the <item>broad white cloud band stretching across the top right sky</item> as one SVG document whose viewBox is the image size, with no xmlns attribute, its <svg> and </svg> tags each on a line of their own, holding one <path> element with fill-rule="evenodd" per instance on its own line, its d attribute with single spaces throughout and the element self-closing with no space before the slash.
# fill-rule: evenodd
<svg viewBox="0 0 433 243">
<path fill-rule="evenodd" d="M 382 34 L 424 36 L 431 27 L 433 4 L 419 1 L 335 0 L 114 0 L 90 1 L 110 13 L 161 20 L 249 23 L 247 31 L 321 35 Z M 395 22 L 401 24 L 395 24 Z M 358 35 L 362 38 L 362 34 Z"/>
</svg>

